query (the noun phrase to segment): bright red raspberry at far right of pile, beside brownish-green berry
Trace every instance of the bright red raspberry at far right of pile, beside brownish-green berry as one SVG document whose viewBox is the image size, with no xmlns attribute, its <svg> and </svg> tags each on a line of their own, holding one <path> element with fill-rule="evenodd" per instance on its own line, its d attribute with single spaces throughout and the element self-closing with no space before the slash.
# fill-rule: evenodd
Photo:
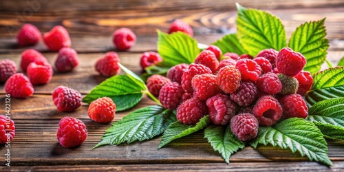
<svg viewBox="0 0 344 172">
<path fill-rule="evenodd" d="M 297 94 L 301 95 L 308 92 L 308 90 L 310 90 L 310 87 L 312 87 L 314 82 L 312 74 L 310 74 L 310 72 L 307 71 L 301 71 L 299 74 L 297 74 L 297 76 L 295 76 L 295 78 L 297 78 L 297 81 L 299 81 Z"/>
</svg>

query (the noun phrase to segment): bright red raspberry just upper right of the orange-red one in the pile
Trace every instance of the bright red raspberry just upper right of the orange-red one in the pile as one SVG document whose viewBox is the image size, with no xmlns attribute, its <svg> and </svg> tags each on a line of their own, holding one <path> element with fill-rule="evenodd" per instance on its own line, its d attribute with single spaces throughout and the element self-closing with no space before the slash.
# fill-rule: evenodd
<svg viewBox="0 0 344 172">
<path fill-rule="evenodd" d="M 250 59 L 241 59 L 237 61 L 235 67 L 241 73 L 241 80 L 256 81 L 261 74 L 261 67 Z"/>
</svg>

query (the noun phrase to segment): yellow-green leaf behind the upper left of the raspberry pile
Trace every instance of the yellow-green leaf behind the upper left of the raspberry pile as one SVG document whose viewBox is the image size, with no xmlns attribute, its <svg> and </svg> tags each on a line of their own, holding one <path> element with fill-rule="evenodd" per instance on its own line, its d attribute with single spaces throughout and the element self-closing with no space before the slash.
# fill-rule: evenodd
<svg viewBox="0 0 344 172">
<path fill-rule="evenodd" d="M 160 65 L 173 67 L 180 63 L 193 63 L 200 50 L 197 41 L 184 32 L 166 34 L 158 30 L 158 52 L 162 57 Z"/>
</svg>

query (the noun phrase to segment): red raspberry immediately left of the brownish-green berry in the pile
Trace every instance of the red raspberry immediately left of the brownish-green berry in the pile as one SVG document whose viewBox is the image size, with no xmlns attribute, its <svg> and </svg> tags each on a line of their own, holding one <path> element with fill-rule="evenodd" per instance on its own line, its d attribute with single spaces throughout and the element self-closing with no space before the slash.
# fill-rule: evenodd
<svg viewBox="0 0 344 172">
<path fill-rule="evenodd" d="M 267 94 L 277 94 L 282 90 L 282 83 L 279 80 L 279 76 L 271 72 L 260 76 L 256 81 L 256 85 L 261 92 Z"/>
</svg>

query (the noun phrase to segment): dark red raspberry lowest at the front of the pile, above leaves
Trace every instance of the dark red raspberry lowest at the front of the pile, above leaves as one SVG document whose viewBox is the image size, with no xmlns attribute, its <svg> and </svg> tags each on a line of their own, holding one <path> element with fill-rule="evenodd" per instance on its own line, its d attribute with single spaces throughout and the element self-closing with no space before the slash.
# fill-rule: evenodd
<svg viewBox="0 0 344 172">
<path fill-rule="evenodd" d="M 252 114 L 237 114 L 230 120 L 230 129 L 241 141 L 257 137 L 258 120 Z"/>
</svg>

